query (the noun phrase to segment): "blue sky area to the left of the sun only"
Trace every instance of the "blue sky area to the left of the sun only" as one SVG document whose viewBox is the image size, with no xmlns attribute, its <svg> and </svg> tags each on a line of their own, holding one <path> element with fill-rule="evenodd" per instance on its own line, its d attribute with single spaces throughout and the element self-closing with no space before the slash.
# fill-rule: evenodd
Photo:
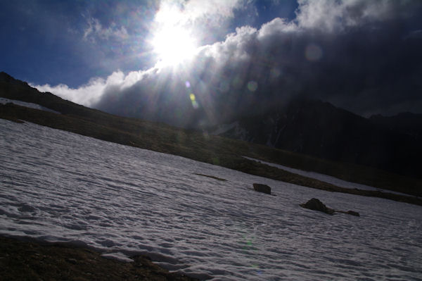
<svg viewBox="0 0 422 281">
<path fill-rule="evenodd" d="M 145 2 L 145 1 L 142 1 Z M 76 87 L 89 78 L 151 66 L 142 54 L 148 21 L 155 5 L 118 4 L 119 1 L 8 1 L 1 10 L 1 59 L 4 71 L 34 83 L 65 83 Z M 138 9 L 137 11 L 135 9 Z M 136 11 L 135 14 L 132 11 Z M 129 39 L 84 37 L 92 21 Z M 116 25 L 115 27 L 113 26 Z M 136 59 L 133 49 L 139 52 Z"/>
</svg>

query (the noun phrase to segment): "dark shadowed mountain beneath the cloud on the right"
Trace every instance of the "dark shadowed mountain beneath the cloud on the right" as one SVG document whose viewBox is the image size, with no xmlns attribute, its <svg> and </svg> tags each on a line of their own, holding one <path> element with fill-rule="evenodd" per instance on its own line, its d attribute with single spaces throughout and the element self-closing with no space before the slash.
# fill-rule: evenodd
<svg viewBox="0 0 422 281">
<path fill-rule="evenodd" d="M 421 177 L 418 118 L 363 118 L 332 104 L 293 99 L 271 113 L 241 118 L 217 135 Z M 411 115 L 414 117 L 414 115 Z M 378 121 L 378 122 L 376 122 Z M 391 127 L 391 129 L 390 129 Z M 417 130 L 419 129 L 419 130 Z"/>
</svg>

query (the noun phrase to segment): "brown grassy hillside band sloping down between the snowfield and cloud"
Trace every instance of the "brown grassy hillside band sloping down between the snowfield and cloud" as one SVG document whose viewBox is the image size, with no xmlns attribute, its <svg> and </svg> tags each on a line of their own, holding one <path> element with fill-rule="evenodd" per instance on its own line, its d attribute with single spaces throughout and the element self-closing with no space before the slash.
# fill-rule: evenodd
<svg viewBox="0 0 422 281">
<path fill-rule="evenodd" d="M 122 118 L 98 110 L 73 104 L 49 93 L 40 93 L 25 82 L 13 79 L 6 73 L 0 75 L 0 96 L 40 104 L 62 114 L 40 111 L 33 108 L 6 104 L 1 106 L 0 117 L 9 120 L 26 120 L 60 130 L 76 132 L 80 135 L 108 140 L 118 144 L 136 146 L 191 158 L 205 163 L 240 170 L 252 175 L 260 175 L 295 185 L 314 187 L 335 192 L 380 196 L 400 201 L 416 202 L 415 198 L 335 187 L 326 182 L 288 173 L 278 168 L 250 161 L 248 156 L 263 161 L 279 163 L 302 170 L 333 175 L 343 180 L 362 183 L 382 189 L 390 189 L 407 194 L 422 194 L 421 180 L 403 177 L 383 170 L 336 163 L 301 154 L 293 154 L 268 146 L 250 144 L 236 139 L 207 135 L 206 133 L 182 130 L 162 123 Z"/>
</svg>

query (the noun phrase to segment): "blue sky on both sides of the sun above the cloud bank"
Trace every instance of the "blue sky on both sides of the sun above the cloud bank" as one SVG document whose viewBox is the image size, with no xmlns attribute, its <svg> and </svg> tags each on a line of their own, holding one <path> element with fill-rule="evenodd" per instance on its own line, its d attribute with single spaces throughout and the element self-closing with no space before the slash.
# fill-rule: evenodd
<svg viewBox="0 0 422 281">
<path fill-rule="evenodd" d="M 221 1 L 224 2 L 224 1 Z M 229 1 L 228 1 L 229 2 Z M 159 1 L 4 1 L 1 18 L 1 70 L 34 84 L 77 87 L 91 77 L 151 68 L 157 58 L 148 37 Z M 276 16 L 293 18 L 295 1 L 252 1 L 234 8 L 224 27 L 210 26 L 212 44 L 236 27 Z M 101 25 L 108 35 L 85 33 Z M 124 34 L 127 32 L 127 35 Z"/>
</svg>

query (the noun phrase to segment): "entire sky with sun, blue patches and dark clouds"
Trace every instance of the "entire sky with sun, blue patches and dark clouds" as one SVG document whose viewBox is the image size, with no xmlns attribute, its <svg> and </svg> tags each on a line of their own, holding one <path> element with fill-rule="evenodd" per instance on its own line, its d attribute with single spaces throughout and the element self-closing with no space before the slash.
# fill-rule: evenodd
<svg viewBox="0 0 422 281">
<path fill-rule="evenodd" d="M 422 113 L 422 1 L 2 1 L 0 70 L 182 127 L 321 99 Z"/>
</svg>

